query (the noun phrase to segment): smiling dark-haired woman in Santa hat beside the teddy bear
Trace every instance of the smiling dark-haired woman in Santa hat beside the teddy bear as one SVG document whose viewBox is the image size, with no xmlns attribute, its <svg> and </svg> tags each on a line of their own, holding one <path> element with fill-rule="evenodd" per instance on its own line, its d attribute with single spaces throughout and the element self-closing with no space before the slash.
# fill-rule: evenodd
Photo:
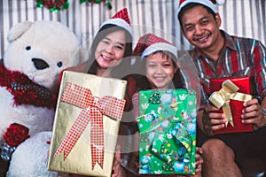
<svg viewBox="0 0 266 177">
<path fill-rule="evenodd" d="M 101 25 L 91 44 L 88 63 L 67 70 L 121 79 L 128 72 L 132 39 L 133 32 L 125 8 Z M 71 176 L 81 177 L 77 174 Z"/>
</svg>

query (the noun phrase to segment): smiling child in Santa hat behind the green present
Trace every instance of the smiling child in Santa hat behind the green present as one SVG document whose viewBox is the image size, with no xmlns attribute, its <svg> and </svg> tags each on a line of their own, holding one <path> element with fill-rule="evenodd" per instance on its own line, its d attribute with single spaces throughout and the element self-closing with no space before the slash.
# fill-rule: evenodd
<svg viewBox="0 0 266 177">
<path fill-rule="evenodd" d="M 144 68 L 145 76 L 141 74 L 134 74 L 127 77 L 128 81 L 128 100 L 132 100 L 132 104 L 128 105 L 128 109 L 135 110 L 134 118 L 138 117 L 138 91 L 140 89 L 175 89 L 184 88 L 184 80 L 182 79 L 181 71 L 177 66 L 177 49 L 175 46 L 165 41 L 164 39 L 153 35 L 147 34 L 140 37 L 137 42 L 137 47 L 134 50 L 135 56 L 140 56 Z M 139 68 L 138 68 L 139 69 Z M 139 71 L 139 70 L 138 70 Z M 128 102 L 128 104 L 131 102 Z M 129 111 L 128 110 L 128 111 Z M 131 115 L 132 118 L 132 115 Z M 121 139 L 120 143 L 123 146 L 121 162 L 116 157 L 115 163 L 120 168 L 116 176 L 136 176 L 138 167 L 137 155 L 137 124 L 136 121 L 130 120 L 129 117 L 122 121 L 122 133 L 127 135 L 125 139 Z M 135 135 L 135 136 L 130 136 Z M 129 152 L 129 153 L 128 153 Z M 201 174 L 201 165 L 203 159 L 201 158 L 202 150 L 197 148 L 196 156 L 196 175 Z M 119 167 L 123 166 L 123 168 Z M 145 175 L 147 176 L 147 175 Z M 152 176 L 152 175 L 151 175 Z M 168 175 L 171 176 L 171 175 Z M 175 175 L 176 176 L 176 175 Z"/>
</svg>

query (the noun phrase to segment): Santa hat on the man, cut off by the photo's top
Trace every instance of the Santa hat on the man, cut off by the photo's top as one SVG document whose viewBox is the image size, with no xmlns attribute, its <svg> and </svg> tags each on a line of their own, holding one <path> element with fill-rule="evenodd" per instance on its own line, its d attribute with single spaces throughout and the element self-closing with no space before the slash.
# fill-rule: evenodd
<svg viewBox="0 0 266 177">
<path fill-rule="evenodd" d="M 218 5 L 223 5 L 225 0 L 180 0 L 179 1 L 179 7 L 177 10 L 177 14 L 179 14 L 179 12 L 181 11 L 181 9 L 187 5 L 187 4 L 191 4 L 191 3 L 195 3 L 195 4 L 202 4 L 207 6 L 208 8 L 210 8 L 213 12 L 217 12 L 217 9 L 215 7 L 215 4 Z"/>
</svg>

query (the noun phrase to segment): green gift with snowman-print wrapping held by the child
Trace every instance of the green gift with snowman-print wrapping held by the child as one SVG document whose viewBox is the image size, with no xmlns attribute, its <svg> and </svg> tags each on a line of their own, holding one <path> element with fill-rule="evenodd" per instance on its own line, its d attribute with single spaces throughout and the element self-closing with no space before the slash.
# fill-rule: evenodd
<svg viewBox="0 0 266 177">
<path fill-rule="evenodd" d="M 139 173 L 194 174 L 196 92 L 191 89 L 139 92 Z"/>
</svg>

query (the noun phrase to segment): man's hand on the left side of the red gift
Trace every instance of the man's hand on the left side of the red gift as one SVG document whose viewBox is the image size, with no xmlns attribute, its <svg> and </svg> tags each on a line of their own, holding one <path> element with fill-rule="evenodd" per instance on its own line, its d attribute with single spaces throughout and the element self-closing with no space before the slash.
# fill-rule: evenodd
<svg viewBox="0 0 266 177">
<path fill-rule="evenodd" d="M 214 105 L 208 105 L 202 115 L 203 128 L 207 135 L 214 135 L 214 131 L 225 127 L 224 123 L 227 122 L 223 113 L 219 111 Z"/>
</svg>

